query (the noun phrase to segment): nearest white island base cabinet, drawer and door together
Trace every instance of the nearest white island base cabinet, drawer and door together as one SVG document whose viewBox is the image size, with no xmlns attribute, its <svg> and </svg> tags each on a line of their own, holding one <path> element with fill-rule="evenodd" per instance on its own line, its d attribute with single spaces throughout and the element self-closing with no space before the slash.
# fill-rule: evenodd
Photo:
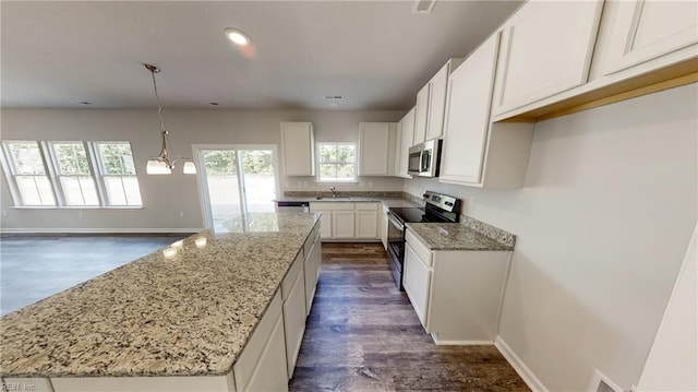
<svg viewBox="0 0 698 392">
<path fill-rule="evenodd" d="M 237 391 L 288 391 L 280 290 L 274 296 L 232 370 Z"/>
</svg>

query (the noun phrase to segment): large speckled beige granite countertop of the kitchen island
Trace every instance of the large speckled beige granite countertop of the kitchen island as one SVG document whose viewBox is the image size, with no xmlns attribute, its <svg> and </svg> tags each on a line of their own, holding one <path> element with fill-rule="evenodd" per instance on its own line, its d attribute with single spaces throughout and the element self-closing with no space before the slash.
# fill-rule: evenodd
<svg viewBox="0 0 698 392">
<path fill-rule="evenodd" d="M 317 214 L 202 231 L 0 319 L 0 376 L 228 373 Z"/>
</svg>

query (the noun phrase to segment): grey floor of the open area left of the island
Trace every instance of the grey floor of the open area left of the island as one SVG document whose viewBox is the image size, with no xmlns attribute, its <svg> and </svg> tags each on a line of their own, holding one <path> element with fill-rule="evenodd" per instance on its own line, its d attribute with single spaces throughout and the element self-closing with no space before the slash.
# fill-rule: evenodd
<svg viewBox="0 0 698 392">
<path fill-rule="evenodd" d="M 129 263 L 184 236 L 0 238 L 0 316 Z"/>
</svg>

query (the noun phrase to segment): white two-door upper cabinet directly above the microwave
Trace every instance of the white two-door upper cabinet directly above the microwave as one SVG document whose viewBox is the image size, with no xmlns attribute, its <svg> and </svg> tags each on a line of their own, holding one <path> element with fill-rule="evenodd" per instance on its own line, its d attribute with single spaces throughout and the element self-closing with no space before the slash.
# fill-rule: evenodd
<svg viewBox="0 0 698 392">
<path fill-rule="evenodd" d="M 448 75 L 461 62 L 462 59 L 448 60 L 417 94 L 413 144 L 443 135 Z"/>
</svg>

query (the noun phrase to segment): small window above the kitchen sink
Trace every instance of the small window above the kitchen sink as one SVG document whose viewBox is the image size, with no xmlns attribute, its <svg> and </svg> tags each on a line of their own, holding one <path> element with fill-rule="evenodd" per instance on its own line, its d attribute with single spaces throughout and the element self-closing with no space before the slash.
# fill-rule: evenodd
<svg viewBox="0 0 698 392">
<path fill-rule="evenodd" d="M 318 181 L 356 182 L 356 150 L 353 143 L 317 143 Z"/>
</svg>

